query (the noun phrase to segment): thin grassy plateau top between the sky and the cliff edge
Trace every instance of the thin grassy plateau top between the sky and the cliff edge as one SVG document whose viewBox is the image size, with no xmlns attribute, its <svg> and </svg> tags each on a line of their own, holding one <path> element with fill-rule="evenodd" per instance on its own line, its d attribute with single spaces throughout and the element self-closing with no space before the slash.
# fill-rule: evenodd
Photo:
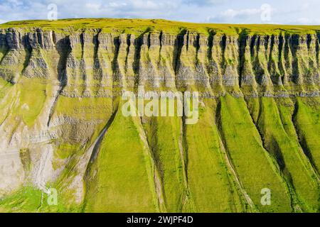
<svg viewBox="0 0 320 227">
<path fill-rule="evenodd" d="M 178 21 L 166 21 L 163 19 L 124 19 L 124 18 L 79 18 L 61 19 L 58 21 L 30 20 L 11 21 L 3 23 L 0 28 L 21 28 L 33 31 L 34 28 L 53 31 L 81 31 L 82 29 L 101 28 L 103 32 L 110 33 L 134 33 L 141 34 L 146 31 L 178 34 L 183 30 L 191 33 L 207 34 L 215 33 L 238 34 L 311 34 L 319 33 L 320 26 L 289 26 L 271 24 L 218 24 L 218 23 L 188 23 Z"/>
</svg>

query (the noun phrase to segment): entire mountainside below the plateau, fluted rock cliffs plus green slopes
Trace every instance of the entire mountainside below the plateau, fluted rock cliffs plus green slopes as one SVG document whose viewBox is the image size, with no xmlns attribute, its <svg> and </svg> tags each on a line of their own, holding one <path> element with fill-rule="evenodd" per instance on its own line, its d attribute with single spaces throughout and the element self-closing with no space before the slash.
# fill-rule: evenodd
<svg viewBox="0 0 320 227">
<path fill-rule="evenodd" d="M 319 60 L 316 31 L 1 28 L 2 206 L 55 187 L 58 211 L 317 211 Z M 200 92 L 199 123 L 121 116 L 142 85 Z"/>
</svg>

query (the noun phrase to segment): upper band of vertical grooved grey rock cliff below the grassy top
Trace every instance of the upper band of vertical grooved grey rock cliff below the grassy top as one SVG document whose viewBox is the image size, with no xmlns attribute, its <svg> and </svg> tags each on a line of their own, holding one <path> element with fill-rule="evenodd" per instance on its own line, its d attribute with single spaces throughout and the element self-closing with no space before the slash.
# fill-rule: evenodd
<svg viewBox="0 0 320 227">
<path fill-rule="evenodd" d="M 12 84 L 24 76 L 82 87 L 74 94 L 63 89 L 66 96 L 104 96 L 110 87 L 138 85 L 208 93 L 218 93 L 214 88 L 220 87 L 251 96 L 318 95 L 316 33 L 203 35 L 182 30 L 177 35 L 118 35 L 88 29 L 65 35 L 35 30 L 1 30 L 1 77 Z M 108 88 L 89 89 L 96 84 Z"/>
</svg>

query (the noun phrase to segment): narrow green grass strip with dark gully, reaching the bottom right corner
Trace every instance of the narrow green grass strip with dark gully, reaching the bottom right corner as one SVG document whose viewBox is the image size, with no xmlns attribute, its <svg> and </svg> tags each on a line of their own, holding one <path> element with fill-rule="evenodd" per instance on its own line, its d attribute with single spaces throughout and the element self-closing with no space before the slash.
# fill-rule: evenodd
<svg viewBox="0 0 320 227">
<path fill-rule="evenodd" d="M 297 139 L 290 138 L 282 126 L 282 120 L 274 99 L 262 97 L 258 127 L 265 148 L 277 160 L 284 179 L 295 189 L 304 211 L 318 211 L 319 182 L 308 165 Z M 291 190 L 294 192 L 294 190 Z M 292 195 L 294 196 L 294 195 Z"/>
</svg>

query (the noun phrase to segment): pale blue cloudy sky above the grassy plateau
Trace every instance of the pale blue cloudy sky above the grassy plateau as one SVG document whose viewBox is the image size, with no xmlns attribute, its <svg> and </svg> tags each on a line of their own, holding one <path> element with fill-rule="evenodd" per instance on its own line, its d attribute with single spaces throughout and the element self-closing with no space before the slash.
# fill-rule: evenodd
<svg viewBox="0 0 320 227">
<path fill-rule="evenodd" d="M 54 18 L 320 24 L 319 0 L 0 0 L 0 23 Z"/>
</svg>

